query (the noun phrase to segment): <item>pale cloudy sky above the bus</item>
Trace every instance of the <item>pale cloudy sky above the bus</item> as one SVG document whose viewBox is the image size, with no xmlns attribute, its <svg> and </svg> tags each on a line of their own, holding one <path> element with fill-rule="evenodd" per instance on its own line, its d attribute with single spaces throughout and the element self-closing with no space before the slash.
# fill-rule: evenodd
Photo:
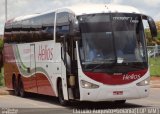
<svg viewBox="0 0 160 114">
<path fill-rule="evenodd" d="M 130 5 L 138 8 L 142 13 L 160 20 L 160 0 L 7 0 L 8 19 L 14 17 L 41 13 L 79 3 L 113 3 Z M 5 23 L 5 0 L 0 0 L 0 34 L 3 34 Z"/>
</svg>

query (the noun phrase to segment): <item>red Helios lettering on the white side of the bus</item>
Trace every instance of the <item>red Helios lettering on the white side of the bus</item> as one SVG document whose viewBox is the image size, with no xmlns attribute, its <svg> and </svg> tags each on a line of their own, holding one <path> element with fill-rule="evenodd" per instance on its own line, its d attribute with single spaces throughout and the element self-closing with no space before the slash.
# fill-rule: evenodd
<svg viewBox="0 0 160 114">
<path fill-rule="evenodd" d="M 48 47 L 48 45 L 39 45 L 38 60 L 53 60 L 53 48 Z"/>
</svg>

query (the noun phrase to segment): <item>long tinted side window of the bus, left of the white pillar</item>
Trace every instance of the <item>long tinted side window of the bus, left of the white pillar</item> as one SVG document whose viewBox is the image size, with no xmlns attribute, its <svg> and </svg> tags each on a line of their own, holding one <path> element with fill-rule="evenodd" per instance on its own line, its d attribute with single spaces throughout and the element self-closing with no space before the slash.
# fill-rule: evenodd
<svg viewBox="0 0 160 114">
<path fill-rule="evenodd" d="M 6 43 L 29 43 L 53 40 L 55 13 L 48 13 L 12 23 L 5 29 Z M 8 26 L 6 26 L 8 27 Z"/>
</svg>

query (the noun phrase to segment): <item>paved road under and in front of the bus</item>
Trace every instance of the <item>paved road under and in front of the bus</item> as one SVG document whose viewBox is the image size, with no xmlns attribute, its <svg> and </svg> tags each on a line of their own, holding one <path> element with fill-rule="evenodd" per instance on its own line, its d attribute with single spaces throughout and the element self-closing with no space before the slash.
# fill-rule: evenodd
<svg viewBox="0 0 160 114">
<path fill-rule="evenodd" d="M 141 114 L 148 111 L 151 114 L 159 114 L 160 88 L 152 88 L 148 98 L 128 100 L 124 105 L 111 102 L 74 102 L 67 107 L 63 107 L 59 105 L 57 98 L 29 94 L 27 98 L 20 98 L 14 95 L 0 95 L 0 107 L 0 114 L 7 114 L 7 111 L 12 112 L 12 114 L 13 112 L 14 114 L 80 114 L 86 112 L 93 113 L 93 111 L 98 114 L 122 113 L 122 111 L 133 111 L 132 113 Z"/>
</svg>

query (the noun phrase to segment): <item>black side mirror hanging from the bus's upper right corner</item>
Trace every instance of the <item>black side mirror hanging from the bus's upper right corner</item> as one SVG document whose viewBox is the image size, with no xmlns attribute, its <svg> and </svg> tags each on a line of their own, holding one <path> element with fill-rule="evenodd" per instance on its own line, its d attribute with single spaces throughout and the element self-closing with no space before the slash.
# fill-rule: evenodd
<svg viewBox="0 0 160 114">
<path fill-rule="evenodd" d="M 148 17 L 147 21 L 151 30 L 152 37 L 157 37 L 157 28 L 154 20 L 151 17 Z"/>
</svg>

